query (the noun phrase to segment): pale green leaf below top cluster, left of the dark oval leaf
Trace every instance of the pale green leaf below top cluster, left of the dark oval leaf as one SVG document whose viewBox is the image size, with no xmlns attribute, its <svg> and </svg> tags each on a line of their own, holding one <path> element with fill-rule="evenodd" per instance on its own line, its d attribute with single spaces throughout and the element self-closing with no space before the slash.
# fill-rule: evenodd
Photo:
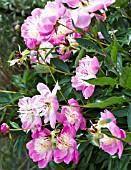
<svg viewBox="0 0 131 170">
<path fill-rule="evenodd" d="M 32 67 L 35 69 L 37 73 L 49 73 L 48 66 L 39 64 L 39 65 L 33 65 Z"/>
</svg>

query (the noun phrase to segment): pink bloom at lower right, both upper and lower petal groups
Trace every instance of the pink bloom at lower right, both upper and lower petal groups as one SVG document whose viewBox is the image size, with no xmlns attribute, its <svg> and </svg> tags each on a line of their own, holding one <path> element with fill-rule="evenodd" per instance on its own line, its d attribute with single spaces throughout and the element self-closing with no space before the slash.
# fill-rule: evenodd
<svg viewBox="0 0 131 170">
<path fill-rule="evenodd" d="M 98 126 L 100 128 L 108 128 L 114 137 L 118 137 L 120 139 L 124 139 L 126 137 L 125 131 L 116 125 L 115 116 L 108 110 L 101 112 L 101 118 L 98 121 Z M 100 148 L 102 148 L 105 152 L 110 155 L 118 154 L 119 158 L 121 158 L 123 152 L 123 143 L 121 140 L 111 138 L 103 134 L 103 137 L 99 140 L 99 142 Z"/>
</svg>

